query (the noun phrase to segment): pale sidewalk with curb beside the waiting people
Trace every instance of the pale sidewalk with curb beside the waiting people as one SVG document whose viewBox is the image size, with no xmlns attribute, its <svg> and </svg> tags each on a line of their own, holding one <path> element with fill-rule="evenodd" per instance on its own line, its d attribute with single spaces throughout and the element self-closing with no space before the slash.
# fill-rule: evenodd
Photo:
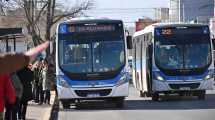
<svg viewBox="0 0 215 120">
<path fill-rule="evenodd" d="M 37 105 L 34 102 L 29 102 L 26 113 L 26 120 L 49 120 L 54 99 L 55 92 L 51 91 L 51 105 Z"/>
</svg>

